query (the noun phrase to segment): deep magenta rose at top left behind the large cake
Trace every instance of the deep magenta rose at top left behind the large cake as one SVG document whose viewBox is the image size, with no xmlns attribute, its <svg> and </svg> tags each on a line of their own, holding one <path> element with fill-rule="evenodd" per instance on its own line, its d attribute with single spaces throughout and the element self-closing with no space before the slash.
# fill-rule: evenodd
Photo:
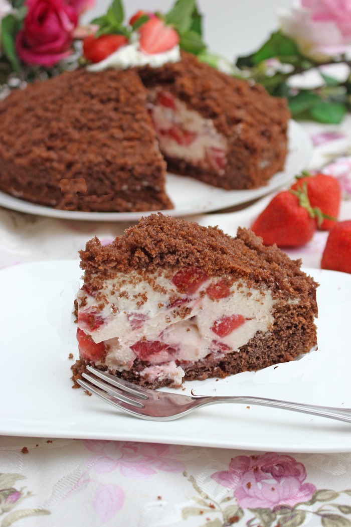
<svg viewBox="0 0 351 527">
<path fill-rule="evenodd" d="M 50 67 L 71 54 L 78 16 L 63 0 L 27 0 L 23 30 L 17 34 L 16 50 L 26 64 Z"/>
</svg>

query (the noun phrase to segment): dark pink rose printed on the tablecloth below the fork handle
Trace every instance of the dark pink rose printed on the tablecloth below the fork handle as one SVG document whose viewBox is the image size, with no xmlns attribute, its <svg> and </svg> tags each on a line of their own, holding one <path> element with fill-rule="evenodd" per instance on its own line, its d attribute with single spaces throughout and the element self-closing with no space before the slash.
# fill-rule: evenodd
<svg viewBox="0 0 351 527">
<path fill-rule="evenodd" d="M 215 472 L 211 477 L 220 485 L 234 489 L 234 496 L 243 509 L 294 506 L 310 500 L 316 490 L 312 483 L 304 483 L 306 470 L 302 463 L 276 453 L 236 456 L 229 470 Z"/>
</svg>

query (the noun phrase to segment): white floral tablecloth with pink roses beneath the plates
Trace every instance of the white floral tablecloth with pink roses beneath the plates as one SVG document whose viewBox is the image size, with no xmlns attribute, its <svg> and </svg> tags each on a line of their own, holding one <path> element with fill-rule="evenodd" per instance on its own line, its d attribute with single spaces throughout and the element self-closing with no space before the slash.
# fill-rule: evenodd
<svg viewBox="0 0 351 527">
<path fill-rule="evenodd" d="M 309 168 L 324 167 L 339 179 L 340 219 L 351 219 L 351 118 L 338 126 L 303 126 L 315 145 Z M 234 234 L 237 226 L 250 225 L 268 199 L 193 219 Z M 76 259 L 95 234 L 108 243 L 126 226 L 0 209 L 0 267 Z M 318 268 L 326 237 L 317 232 L 289 255 Z M 11 394 L 2 404 L 11 405 Z M 351 525 L 351 452 L 250 452 L 0 436 L 0 527 L 13 524 L 345 527 Z"/>
</svg>

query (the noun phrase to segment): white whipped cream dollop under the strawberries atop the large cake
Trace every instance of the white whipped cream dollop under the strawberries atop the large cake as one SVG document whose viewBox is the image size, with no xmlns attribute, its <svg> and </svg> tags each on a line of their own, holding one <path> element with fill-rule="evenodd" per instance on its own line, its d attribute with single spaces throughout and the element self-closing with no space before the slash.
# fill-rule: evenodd
<svg viewBox="0 0 351 527">
<path fill-rule="evenodd" d="M 180 48 L 174 46 L 171 50 L 164 53 L 154 53 L 149 55 L 139 48 L 139 41 L 135 40 L 131 44 L 120 47 L 117 51 L 106 57 L 103 61 L 86 66 L 89 72 L 104 70 L 126 70 L 129 67 L 160 67 L 167 62 L 178 62 L 180 60 Z"/>
</svg>

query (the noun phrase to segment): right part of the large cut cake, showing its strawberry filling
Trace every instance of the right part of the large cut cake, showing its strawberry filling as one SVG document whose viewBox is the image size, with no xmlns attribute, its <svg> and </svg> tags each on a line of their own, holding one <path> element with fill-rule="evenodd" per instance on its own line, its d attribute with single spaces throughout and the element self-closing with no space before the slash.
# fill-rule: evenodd
<svg viewBox="0 0 351 527">
<path fill-rule="evenodd" d="M 223 189 L 263 186 L 287 154 L 286 100 L 194 55 L 139 74 L 168 170 Z"/>
</svg>

